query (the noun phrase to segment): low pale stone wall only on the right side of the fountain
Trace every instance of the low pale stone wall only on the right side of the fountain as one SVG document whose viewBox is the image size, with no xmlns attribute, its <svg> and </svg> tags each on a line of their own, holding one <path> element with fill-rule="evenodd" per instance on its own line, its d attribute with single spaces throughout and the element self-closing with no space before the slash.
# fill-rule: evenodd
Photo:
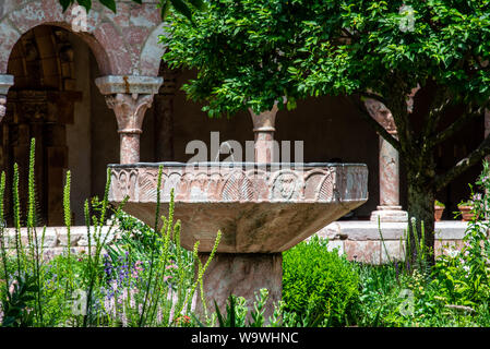
<svg viewBox="0 0 490 349">
<path fill-rule="evenodd" d="M 437 221 L 435 255 L 446 248 L 461 250 L 467 226 L 466 221 Z M 406 229 L 406 222 L 381 222 L 378 226 L 369 220 L 338 220 L 320 230 L 318 236 L 328 238 L 328 249 L 338 248 L 339 253 L 345 253 L 350 261 L 384 264 L 389 260 L 404 260 Z"/>
</svg>

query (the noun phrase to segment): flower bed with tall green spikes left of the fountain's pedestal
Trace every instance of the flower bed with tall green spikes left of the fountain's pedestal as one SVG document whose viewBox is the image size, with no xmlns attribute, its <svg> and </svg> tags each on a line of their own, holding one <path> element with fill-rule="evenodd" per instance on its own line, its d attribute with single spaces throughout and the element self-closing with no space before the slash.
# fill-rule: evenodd
<svg viewBox="0 0 490 349">
<path fill-rule="evenodd" d="M 203 266 L 196 258 L 199 243 L 192 252 L 183 251 L 180 246 L 180 221 L 174 222 L 172 218 L 174 193 L 168 218 L 159 216 L 159 208 L 156 212 L 155 227 L 160 226 L 162 229 L 151 229 L 122 213 L 127 198 L 119 207 L 110 207 L 108 169 L 103 198 L 93 197 L 85 201 L 84 205 L 88 251 L 74 254 L 70 241 L 71 177 L 68 172 L 63 191 L 67 248 L 60 255 L 47 255 L 44 252 L 46 227 L 40 237 L 35 227 L 34 149 L 33 140 L 27 177 L 26 244 L 22 244 L 20 233 L 20 169 L 16 165 L 12 183 L 15 228 L 13 251 L 5 243 L 4 226 L 0 226 L 2 326 L 192 325 L 191 300 L 198 287 L 201 290 L 203 288 L 203 275 L 216 252 L 220 232 L 217 233 L 208 262 Z M 0 221 L 4 218 L 4 190 L 3 172 L 0 180 Z M 110 210 L 116 219 L 107 219 Z M 116 239 L 115 245 L 110 246 L 109 237 L 115 231 L 121 238 Z M 103 258 L 105 250 L 110 256 L 107 254 Z M 194 268 L 198 275 L 195 280 Z"/>
</svg>

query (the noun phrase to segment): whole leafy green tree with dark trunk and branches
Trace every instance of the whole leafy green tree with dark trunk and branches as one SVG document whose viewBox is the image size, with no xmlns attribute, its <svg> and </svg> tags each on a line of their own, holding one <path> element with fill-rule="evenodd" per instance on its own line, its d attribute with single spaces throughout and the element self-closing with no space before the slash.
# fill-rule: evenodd
<svg viewBox="0 0 490 349">
<path fill-rule="evenodd" d="M 445 173 L 434 149 L 489 100 L 490 1 L 210 0 L 193 24 L 172 16 L 163 37 L 171 67 L 196 69 L 184 85 L 210 116 L 268 110 L 285 96 L 344 95 L 404 159 L 408 214 L 434 229 L 435 193 L 490 153 L 487 137 Z M 368 112 L 392 112 L 398 137 Z M 280 107 L 280 105 L 279 105 Z M 450 118 L 449 111 L 458 112 Z M 479 132 L 482 132 L 479 131 Z M 433 246 L 433 234 L 425 243 Z M 411 251 L 415 240 L 411 238 Z M 417 256 L 414 253 L 413 258 Z M 433 263 L 433 256 L 428 261 Z"/>
</svg>

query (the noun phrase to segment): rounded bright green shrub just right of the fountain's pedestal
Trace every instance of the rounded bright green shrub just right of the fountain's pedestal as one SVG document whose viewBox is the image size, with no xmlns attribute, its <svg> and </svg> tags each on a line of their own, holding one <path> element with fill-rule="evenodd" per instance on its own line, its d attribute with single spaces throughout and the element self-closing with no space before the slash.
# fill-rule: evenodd
<svg viewBox="0 0 490 349">
<path fill-rule="evenodd" d="M 327 241 L 313 237 L 284 253 L 283 301 L 285 310 L 303 317 L 320 316 L 324 324 L 349 324 L 359 299 L 359 276 Z"/>
</svg>

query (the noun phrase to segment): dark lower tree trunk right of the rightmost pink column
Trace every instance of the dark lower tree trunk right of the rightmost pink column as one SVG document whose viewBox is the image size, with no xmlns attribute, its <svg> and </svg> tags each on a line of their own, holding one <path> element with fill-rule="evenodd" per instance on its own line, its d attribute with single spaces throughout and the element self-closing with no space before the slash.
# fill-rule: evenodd
<svg viewBox="0 0 490 349">
<path fill-rule="evenodd" d="M 434 200 L 435 188 L 432 181 L 428 177 L 421 177 L 420 172 L 414 173 L 408 170 L 408 217 L 409 217 L 409 245 L 406 246 L 409 252 L 407 260 L 409 261 L 410 268 L 420 267 L 420 261 L 429 266 L 434 264 Z M 415 230 L 413 229 L 413 219 L 415 218 Z M 423 229 L 422 229 L 423 225 Z M 423 245 L 426 251 L 432 253 L 422 256 L 421 253 L 421 240 L 423 231 Z M 416 243 L 418 238 L 418 244 Z M 429 250 L 427 250 L 429 249 Z M 426 265 L 427 265 L 426 264 Z"/>
</svg>

